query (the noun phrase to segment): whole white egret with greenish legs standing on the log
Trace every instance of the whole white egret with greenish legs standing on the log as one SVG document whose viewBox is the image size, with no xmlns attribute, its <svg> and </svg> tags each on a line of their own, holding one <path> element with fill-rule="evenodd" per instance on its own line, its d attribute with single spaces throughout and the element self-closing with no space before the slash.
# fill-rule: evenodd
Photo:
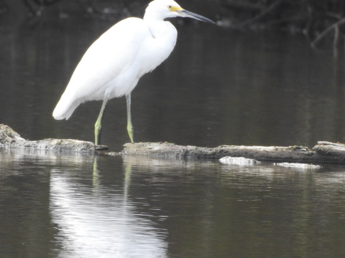
<svg viewBox="0 0 345 258">
<path fill-rule="evenodd" d="M 99 37 L 86 51 L 53 111 L 68 119 L 79 104 L 103 100 L 95 123 L 95 144 L 100 144 L 101 121 L 109 99 L 126 96 L 127 131 L 135 142 L 131 119 L 131 92 L 140 77 L 161 64 L 174 49 L 177 31 L 166 18 L 190 17 L 211 22 L 181 8 L 172 0 L 154 0 L 143 19 L 124 19 Z"/>
</svg>

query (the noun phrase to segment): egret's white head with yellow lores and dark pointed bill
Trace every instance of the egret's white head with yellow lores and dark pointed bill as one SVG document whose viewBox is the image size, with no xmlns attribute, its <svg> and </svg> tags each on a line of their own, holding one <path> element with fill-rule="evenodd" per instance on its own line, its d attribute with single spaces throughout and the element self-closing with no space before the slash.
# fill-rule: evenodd
<svg viewBox="0 0 345 258">
<path fill-rule="evenodd" d="M 173 0 L 154 0 L 150 2 L 149 6 L 146 8 L 144 19 L 152 18 L 164 20 L 165 18 L 171 17 L 190 17 L 200 21 L 214 23 L 206 17 L 181 8 L 178 3 Z"/>
</svg>

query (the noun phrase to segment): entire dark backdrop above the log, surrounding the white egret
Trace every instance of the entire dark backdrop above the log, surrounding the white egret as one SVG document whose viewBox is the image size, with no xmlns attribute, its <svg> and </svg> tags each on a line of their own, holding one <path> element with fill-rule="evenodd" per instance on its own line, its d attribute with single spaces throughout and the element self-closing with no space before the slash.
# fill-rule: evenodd
<svg viewBox="0 0 345 258">
<path fill-rule="evenodd" d="M 80 105 L 67 121 L 51 113 L 92 42 L 120 19 L 142 17 L 148 2 L 0 1 L 0 123 L 30 140 L 94 141 L 101 101 Z M 171 19 L 178 30 L 173 53 L 132 94 L 137 141 L 345 141 L 341 1 L 178 3 L 216 25 Z M 108 102 L 101 141 L 110 150 L 128 142 L 125 114 L 124 98 Z"/>
</svg>

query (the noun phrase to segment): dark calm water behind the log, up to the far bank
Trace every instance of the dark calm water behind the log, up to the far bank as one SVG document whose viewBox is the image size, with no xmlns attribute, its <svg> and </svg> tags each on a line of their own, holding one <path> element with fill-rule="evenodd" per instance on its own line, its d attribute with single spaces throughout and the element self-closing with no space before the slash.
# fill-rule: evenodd
<svg viewBox="0 0 345 258">
<path fill-rule="evenodd" d="M 101 101 L 68 121 L 51 116 L 81 55 L 110 23 L 52 20 L 2 28 L 0 120 L 24 138 L 94 141 Z M 184 145 L 344 142 L 344 58 L 302 37 L 240 34 L 207 23 L 178 26 L 171 56 L 132 93 L 138 141 Z M 110 100 L 102 143 L 128 141 L 125 98 Z"/>
</svg>

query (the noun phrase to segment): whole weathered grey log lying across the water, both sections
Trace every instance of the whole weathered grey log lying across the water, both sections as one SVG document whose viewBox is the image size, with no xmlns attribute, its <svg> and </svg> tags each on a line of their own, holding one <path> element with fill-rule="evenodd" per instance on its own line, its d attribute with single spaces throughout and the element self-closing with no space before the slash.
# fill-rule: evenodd
<svg viewBox="0 0 345 258">
<path fill-rule="evenodd" d="M 150 157 L 211 158 L 244 157 L 260 161 L 289 161 L 312 163 L 345 163 L 345 144 L 319 141 L 313 149 L 303 146 L 264 147 L 228 146 L 215 148 L 180 146 L 168 142 L 126 143 L 121 152 L 108 152 L 108 155 L 141 155 Z M 96 146 L 92 142 L 71 139 L 45 139 L 28 141 L 12 128 L 0 125 L 0 147 L 36 148 L 60 151 L 105 150 L 106 146 Z"/>
</svg>

